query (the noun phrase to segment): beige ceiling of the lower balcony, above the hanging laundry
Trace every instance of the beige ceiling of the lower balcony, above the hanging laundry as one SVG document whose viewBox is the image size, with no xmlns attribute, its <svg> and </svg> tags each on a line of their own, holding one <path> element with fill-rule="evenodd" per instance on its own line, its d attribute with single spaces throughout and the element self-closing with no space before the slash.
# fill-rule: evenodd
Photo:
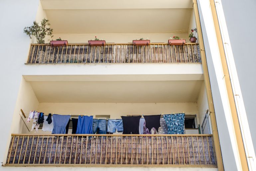
<svg viewBox="0 0 256 171">
<path fill-rule="evenodd" d="M 31 81 L 39 102 L 196 102 L 202 80 L 191 81 Z"/>
</svg>

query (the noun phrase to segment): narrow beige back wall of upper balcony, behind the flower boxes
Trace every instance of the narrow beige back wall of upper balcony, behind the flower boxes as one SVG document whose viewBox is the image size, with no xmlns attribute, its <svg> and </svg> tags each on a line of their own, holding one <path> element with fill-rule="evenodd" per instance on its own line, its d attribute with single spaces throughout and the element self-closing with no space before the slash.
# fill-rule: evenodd
<svg viewBox="0 0 256 171">
<path fill-rule="evenodd" d="M 106 43 L 132 43 L 134 39 L 139 40 L 143 38 L 146 40 L 149 38 L 151 43 L 168 43 L 168 39 L 173 36 L 179 36 L 181 39 L 186 39 L 189 41 L 188 33 L 152 33 L 152 34 L 60 34 L 54 33 L 53 40 L 61 38 L 62 40 L 67 40 L 68 43 L 88 43 L 89 40 L 94 40 L 97 36 L 99 39 L 103 39 Z"/>
</svg>

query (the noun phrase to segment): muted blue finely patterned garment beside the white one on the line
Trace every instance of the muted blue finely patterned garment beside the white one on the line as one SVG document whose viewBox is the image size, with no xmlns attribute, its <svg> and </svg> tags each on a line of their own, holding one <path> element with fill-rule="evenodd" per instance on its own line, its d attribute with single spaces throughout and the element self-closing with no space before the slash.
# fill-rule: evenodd
<svg viewBox="0 0 256 171">
<path fill-rule="evenodd" d="M 54 134 L 64 134 L 66 133 L 66 125 L 70 120 L 69 115 L 53 115 L 53 131 Z"/>
</svg>

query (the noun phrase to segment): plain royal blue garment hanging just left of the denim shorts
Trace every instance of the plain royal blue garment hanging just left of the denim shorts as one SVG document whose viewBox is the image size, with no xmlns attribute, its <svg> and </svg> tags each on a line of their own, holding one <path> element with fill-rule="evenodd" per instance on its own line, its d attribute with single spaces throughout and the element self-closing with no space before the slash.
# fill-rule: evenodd
<svg viewBox="0 0 256 171">
<path fill-rule="evenodd" d="M 78 116 L 77 128 L 75 133 L 92 134 L 93 116 Z"/>
</svg>

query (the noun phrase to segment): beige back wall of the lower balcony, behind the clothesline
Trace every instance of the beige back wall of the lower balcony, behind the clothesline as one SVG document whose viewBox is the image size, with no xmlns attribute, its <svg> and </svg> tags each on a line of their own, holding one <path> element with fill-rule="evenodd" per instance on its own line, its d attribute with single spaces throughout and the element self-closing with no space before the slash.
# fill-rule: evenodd
<svg viewBox="0 0 256 171">
<path fill-rule="evenodd" d="M 62 115 L 110 115 L 111 119 L 121 119 L 126 115 L 156 115 L 181 112 L 196 112 L 196 103 L 40 103 L 37 109 Z M 187 130 L 186 130 L 187 131 Z M 31 132 L 33 133 L 33 132 Z M 39 130 L 38 133 L 51 133 Z M 71 133 L 71 130 L 69 130 Z M 190 133 L 197 133 L 191 132 Z"/>
</svg>

